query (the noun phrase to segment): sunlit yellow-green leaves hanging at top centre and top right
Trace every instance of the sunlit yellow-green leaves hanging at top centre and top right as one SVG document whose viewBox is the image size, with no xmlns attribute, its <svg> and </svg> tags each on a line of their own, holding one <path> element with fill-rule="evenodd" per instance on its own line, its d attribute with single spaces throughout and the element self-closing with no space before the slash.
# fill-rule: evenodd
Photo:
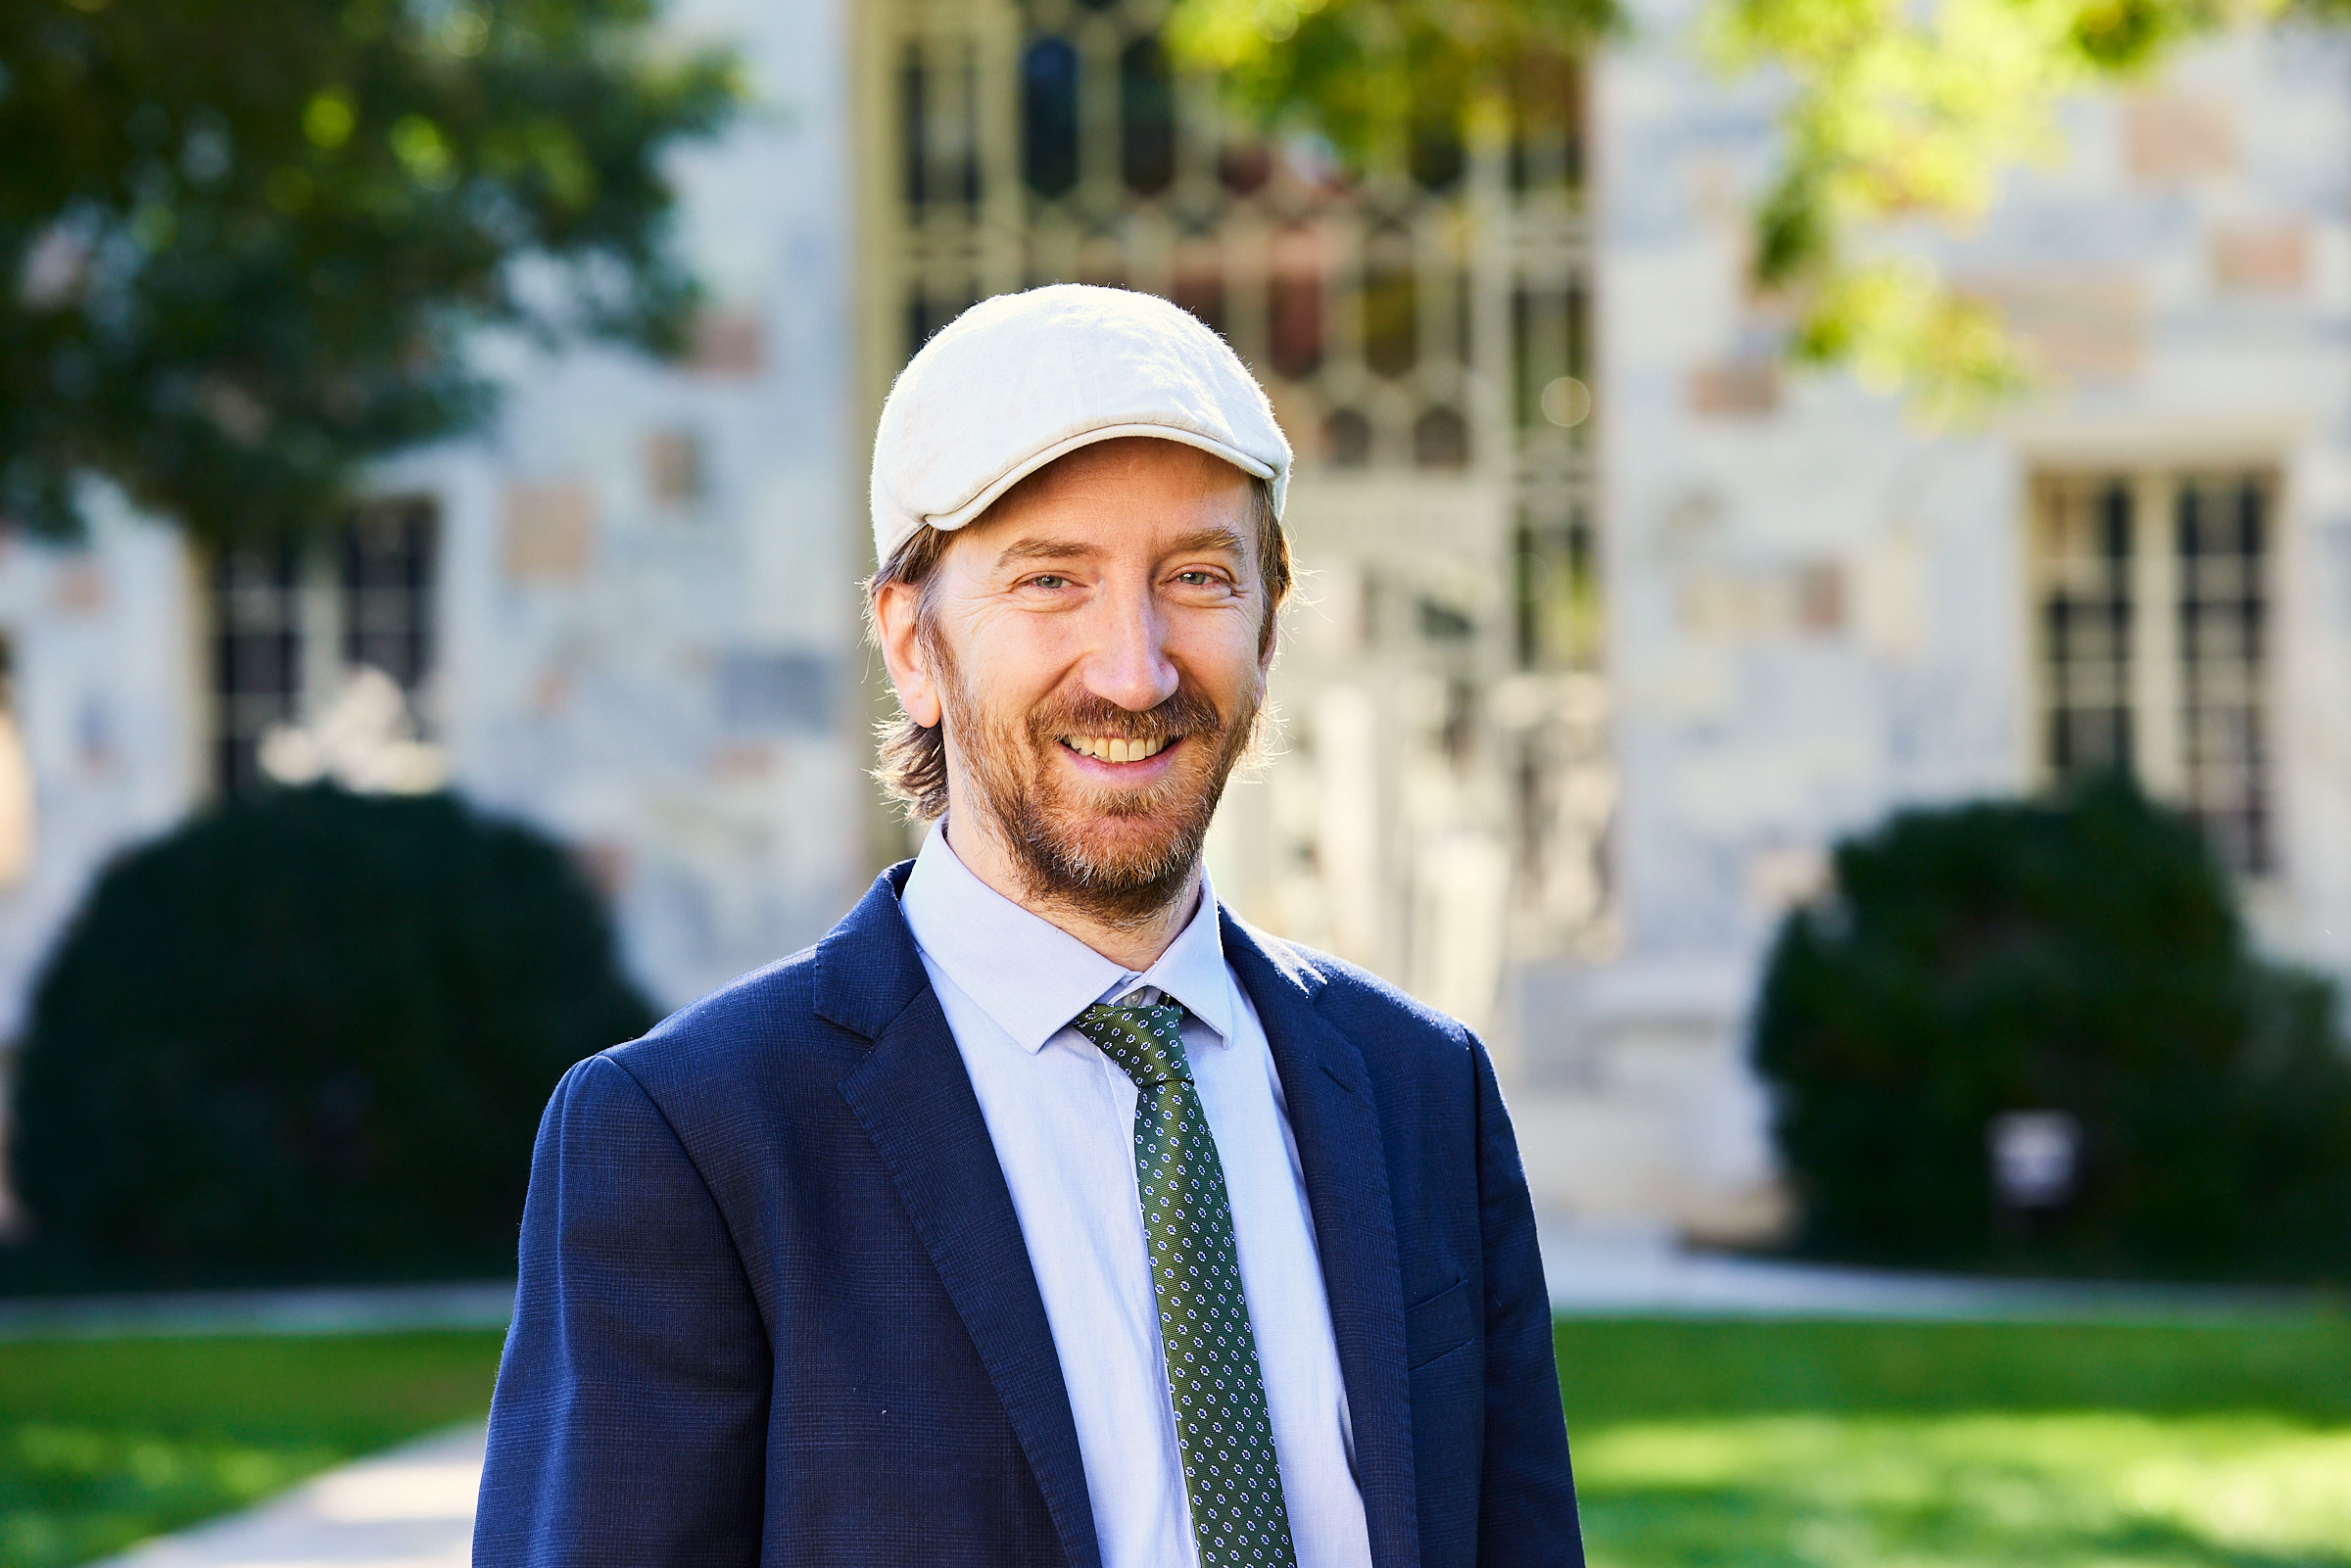
<svg viewBox="0 0 2351 1568">
<path fill-rule="evenodd" d="M 1956 292 L 1909 226 L 1980 219 L 2003 172 L 2062 146 L 2069 94 L 2288 9 L 2344 0 L 1709 0 L 1714 61 L 1791 87 L 1754 219 L 1756 282 L 1796 306 L 1789 353 L 1930 416 L 2029 386 L 2031 346 Z M 1168 35 L 1241 115 L 1380 158 L 1399 106 L 1476 132 L 1523 49 L 1585 52 L 1613 26 L 1613 0 L 1178 0 Z"/>
</svg>

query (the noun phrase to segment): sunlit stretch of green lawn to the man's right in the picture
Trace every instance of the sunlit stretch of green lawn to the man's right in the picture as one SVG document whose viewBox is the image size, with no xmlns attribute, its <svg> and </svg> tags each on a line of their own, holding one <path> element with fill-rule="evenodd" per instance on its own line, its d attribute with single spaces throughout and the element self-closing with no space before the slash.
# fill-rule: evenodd
<svg viewBox="0 0 2351 1568">
<path fill-rule="evenodd" d="M 2351 1568 L 2351 1319 L 1566 1321 L 1594 1568 Z"/>
</svg>

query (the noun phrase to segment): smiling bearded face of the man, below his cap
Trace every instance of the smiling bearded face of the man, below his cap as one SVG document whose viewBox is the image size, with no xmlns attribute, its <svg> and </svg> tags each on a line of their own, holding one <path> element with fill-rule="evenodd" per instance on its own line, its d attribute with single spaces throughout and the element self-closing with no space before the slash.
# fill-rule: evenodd
<svg viewBox="0 0 2351 1568">
<path fill-rule="evenodd" d="M 947 545 L 900 696 L 945 717 L 950 820 L 1034 898 L 1126 924 L 1190 884 L 1265 698 L 1255 505 L 1204 451 L 1114 440 Z"/>
</svg>

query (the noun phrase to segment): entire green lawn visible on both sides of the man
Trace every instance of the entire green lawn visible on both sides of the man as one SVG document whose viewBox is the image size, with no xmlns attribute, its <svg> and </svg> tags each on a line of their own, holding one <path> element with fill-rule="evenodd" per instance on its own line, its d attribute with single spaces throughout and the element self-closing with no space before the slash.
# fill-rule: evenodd
<svg viewBox="0 0 2351 1568">
<path fill-rule="evenodd" d="M 0 1568 L 489 1403 L 496 1333 L 0 1345 Z M 1596 1568 L 2351 1568 L 2351 1316 L 1559 1326 Z"/>
</svg>

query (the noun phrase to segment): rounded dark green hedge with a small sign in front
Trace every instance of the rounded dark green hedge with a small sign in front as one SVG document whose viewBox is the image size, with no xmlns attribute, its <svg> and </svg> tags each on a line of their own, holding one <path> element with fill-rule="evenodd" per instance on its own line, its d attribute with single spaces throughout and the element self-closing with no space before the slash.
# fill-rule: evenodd
<svg viewBox="0 0 2351 1568">
<path fill-rule="evenodd" d="M 1904 811 L 1780 929 L 1754 1060 L 1801 1246 L 1904 1262 L 2351 1276 L 2351 1056 L 2245 943 L 2201 835 L 2123 780 Z M 2078 1190 L 1996 1218 L 1987 1126 L 2062 1110 Z"/>
</svg>

